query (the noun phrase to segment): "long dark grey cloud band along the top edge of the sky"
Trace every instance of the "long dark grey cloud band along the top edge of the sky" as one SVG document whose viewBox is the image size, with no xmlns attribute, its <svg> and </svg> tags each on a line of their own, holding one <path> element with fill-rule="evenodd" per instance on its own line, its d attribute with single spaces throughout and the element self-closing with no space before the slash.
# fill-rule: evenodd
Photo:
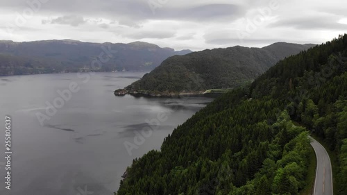
<svg viewBox="0 0 347 195">
<path fill-rule="evenodd" d="M 22 3 L 12 1 L 0 1 L 0 7 L 12 7 L 22 12 L 29 6 L 22 0 Z M 102 16 L 109 19 L 132 20 L 133 23 L 146 21 L 148 19 L 181 19 L 203 22 L 205 20 L 228 18 L 232 19 L 244 12 L 244 7 L 227 3 L 201 3 L 196 2 L 194 6 L 187 6 L 182 1 L 176 3 L 175 7 L 170 6 L 171 2 L 163 4 L 155 10 L 153 14 L 149 6 L 149 0 L 99 0 L 99 1 L 78 1 L 60 0 L 48 1 L 41 5 L 38 12 L 58 12 L 69 15 L 87 15 L 90 17 Z M 246 6 L 245 6 L 246 7 Z"/>
</svg>

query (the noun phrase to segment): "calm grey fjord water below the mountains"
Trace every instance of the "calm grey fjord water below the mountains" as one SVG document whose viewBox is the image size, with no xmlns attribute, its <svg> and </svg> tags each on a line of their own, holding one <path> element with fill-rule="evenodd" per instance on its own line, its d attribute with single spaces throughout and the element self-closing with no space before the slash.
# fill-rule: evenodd
<svg viewBox="0 0 347 195">
<path fill-rule="evenodd" d="M 96 73 L 89 80 L 76 74 L 0 77 L 0 194 L 112 194 L 134 158 L 160 149 L 164 137 L 178 124 L 212 101 L 206 97 L 117 97 L 112 93 L 143 75 Z M 71 99 L 42 126 L 37 113 L 46 115 L 46 102 L 53 104 L 60 97 L 57 90 L 68 90 L 71 83 L 78 85 L 78 92 L 72 92 Z M 158 119 L 158 113 L 167 119 L 144 143 L 137 142 L 138 149 L 129 155 L 124 143 L 135 144 L 135 131 L 149 127 L 146 120 Z M 11 190 L 4 183 L 5 115 L 12 117 Z"/>
</svg>

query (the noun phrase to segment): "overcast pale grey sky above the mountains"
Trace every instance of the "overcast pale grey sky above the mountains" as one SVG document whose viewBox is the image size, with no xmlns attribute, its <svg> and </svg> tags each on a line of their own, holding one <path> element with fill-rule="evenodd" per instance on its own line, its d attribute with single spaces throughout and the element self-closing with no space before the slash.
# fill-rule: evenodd
<svg viewBox="0 0 347 195">
<path fill-rule="evenodd" d="M 346 8 L 342 0 L 0 0 L 0 40 L 139 40 L 194 51 L 320 44 L 347 33 Z"/>
</svg>

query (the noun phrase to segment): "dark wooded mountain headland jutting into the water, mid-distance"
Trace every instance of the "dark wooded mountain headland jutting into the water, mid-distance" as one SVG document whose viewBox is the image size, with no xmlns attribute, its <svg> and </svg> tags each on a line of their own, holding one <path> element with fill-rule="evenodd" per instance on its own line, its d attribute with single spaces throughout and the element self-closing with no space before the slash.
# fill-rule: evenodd
<svg viewBox="0 0 347 195">
<path fill-rule="evenodd" d="M 314 44 L 278 42 L 263 48 L 234 46 L 173 56 L 126 87 L 126 90 L 146 94 L 177 94 L 237 87 L 251 83 L 279 60 L 312 46 Z"/>
</svg>

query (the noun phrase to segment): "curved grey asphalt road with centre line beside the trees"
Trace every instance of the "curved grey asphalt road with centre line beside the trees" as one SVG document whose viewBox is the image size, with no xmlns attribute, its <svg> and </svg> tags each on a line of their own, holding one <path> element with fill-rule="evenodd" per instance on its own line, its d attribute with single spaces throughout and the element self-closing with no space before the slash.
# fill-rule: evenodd
<svg viewBox="0 0 347 195">
<path fill-rule="evenodd" d="M 314 195 L 332 195 L 332 168 L 329 155 L 319 142 L 312 137 L 311 139 L 311 146 L 317 158 Z"/>
</svg>

